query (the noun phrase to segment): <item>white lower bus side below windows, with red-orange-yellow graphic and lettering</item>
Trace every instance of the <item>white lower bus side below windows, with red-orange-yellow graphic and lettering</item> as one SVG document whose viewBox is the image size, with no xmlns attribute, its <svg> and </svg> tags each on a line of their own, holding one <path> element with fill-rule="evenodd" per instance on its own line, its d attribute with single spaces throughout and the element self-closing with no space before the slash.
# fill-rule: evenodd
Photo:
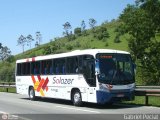
<svg viewBox="0 0 160 120">
<path fill-rule="evenodd" d="M 35 96 L 71 100 L 72 89 L 79 89 L 84 102 L 96 102 L 96 88 L 89 87 L 83 75 L 16 76 L 17 93 L 28 95 L 33 86 Z"/>
</svg>

